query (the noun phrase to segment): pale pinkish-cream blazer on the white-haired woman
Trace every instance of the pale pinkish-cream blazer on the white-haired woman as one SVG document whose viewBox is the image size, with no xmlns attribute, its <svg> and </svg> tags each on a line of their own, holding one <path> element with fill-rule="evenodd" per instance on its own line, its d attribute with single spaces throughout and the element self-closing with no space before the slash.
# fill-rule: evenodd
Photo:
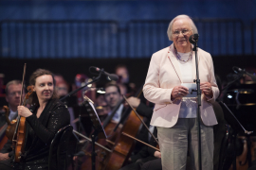
<svg viewBox="0 0 256 170">
<path fill-rule="evenodd" d="M 170 49 L 170 50 L 169 50 Z M 211 56 L 208 52 L 198 48 L 198 68 L 200 82 L 210 82 L 213 97 L 208 99 L 202 93 L 201 119 L 206 126 L 217 124 L 211 102 L 219 94 L 214 76 Z M 153 54 L 148 74 L 143 86 L 145 97 L 155 103 L 151 125 L 155 127 L 174 127 L 177 122 L 181 99 L 171 100 L 171 93 L 175 86 L 181 85 L 182 77 L 178 60 L 174 53 L 174 43 Z M 196 78 L 195 56 L 192 52 L 192 76 Z"/>
</svg>

